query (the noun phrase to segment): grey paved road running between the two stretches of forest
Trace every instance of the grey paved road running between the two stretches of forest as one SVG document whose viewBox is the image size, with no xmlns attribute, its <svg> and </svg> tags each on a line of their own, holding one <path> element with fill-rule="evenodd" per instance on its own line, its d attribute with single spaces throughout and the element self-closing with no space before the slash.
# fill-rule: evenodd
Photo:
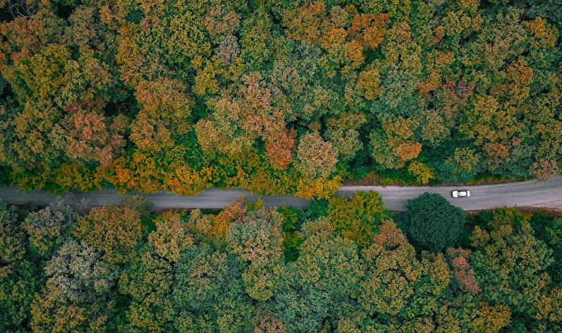
<svg viewBox="0 0 562 333">
<path fill-rule="evenodd" d="M 550 178 L 548 181 L 534 183 L 523 181 L 519 183 L 503 183 L 485 186 L 464 186 L 463 189 L 470 190 L 470 198 L 451 198 L 451 190 L 458 189 L 448 186 L 342 186 L 337 195 L 349 197 L 358 190 L 375 190 L 382 195 L 382 199 L 391 210 L 404 210 L 408 199 L 415 198 L 424 192 L 434 192 L 444 195 L 453 205 L 463 210 L 484 210 L 495 207 L 562 207 L 562 176 Z M 85 198 L 92 206 L 116 205 L 123 198 L 140 194 L 132 192 L 128 195 L 119 195 L 115 190 L 99 190 L 92 193 L 74 192 L 76 199 Z M 248 193 L 246 190 L 228 189 L 221 190 L 209 188 L 194 197 L 175 195 L 172 193 L 158 192 L 142 195 L 154 207 L 159 209 L 168 208 L 221 208 L 229 202 L 233 202 L 240 195 L 244 195 L 250 201 L 255 202 L 257 195 Z M 37 205 L 47 205 L 56 198 L 43 191 L 20 192 L 18 188 L 0 188 L 0 198 L 8 203 L 23 204 L 35 202 Z M 308 201 L 303 198 L 295 198 L 293 195 L 271 195 L 262 197 L 264 206 L 293 206 L 307 207 Z"/>
</svg>

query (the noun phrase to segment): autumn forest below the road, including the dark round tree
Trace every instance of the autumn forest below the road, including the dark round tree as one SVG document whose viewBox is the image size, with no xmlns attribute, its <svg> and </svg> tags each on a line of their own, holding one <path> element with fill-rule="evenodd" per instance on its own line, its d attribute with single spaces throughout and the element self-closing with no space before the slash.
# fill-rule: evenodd
<svg viewBox="0 0 562 333">
<path fill-rule="evenodd" d="M 1 332 L 561 332 L 562 218 L 436 194 L 308 210 L 0 201 Z"/>
</svg>

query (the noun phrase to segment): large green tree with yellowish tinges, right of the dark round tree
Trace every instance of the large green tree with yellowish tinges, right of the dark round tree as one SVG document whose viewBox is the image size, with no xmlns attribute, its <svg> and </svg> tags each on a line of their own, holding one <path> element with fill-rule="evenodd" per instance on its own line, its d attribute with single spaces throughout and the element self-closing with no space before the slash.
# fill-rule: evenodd
<svg viewBox="0 0 562 333">
<path fill-rule="evenodd" d="M 482 296 L 536 316 L 553 259 L 546 244 L 534 237 L 529 217 L 514 209 L 496 210 L 487 226 L 476 226 L 470 238 L 475 247 L 471 265 Z"/>
</svg>

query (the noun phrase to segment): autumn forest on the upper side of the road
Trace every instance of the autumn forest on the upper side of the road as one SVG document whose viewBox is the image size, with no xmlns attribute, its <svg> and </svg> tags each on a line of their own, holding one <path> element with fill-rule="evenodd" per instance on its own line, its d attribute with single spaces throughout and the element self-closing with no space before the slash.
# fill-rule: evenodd
<svg viewBox="0 0 562 333">
<path fill-rule="evenodd" d="M 0 0 L 0 183 L 548 178 L 561 25 L 560 0 Z"/>
</svg>

